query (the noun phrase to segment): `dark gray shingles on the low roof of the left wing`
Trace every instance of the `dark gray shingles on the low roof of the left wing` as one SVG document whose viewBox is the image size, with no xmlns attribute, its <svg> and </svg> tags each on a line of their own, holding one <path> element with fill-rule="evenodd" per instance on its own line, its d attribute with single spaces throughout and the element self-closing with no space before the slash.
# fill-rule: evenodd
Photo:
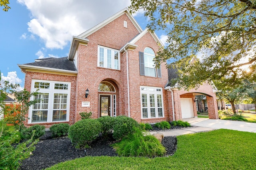
<svg viewBox="0 0 256 170">
<path fill-rule="evenodd" d="M 42 61 L 37 60 L 34 63 L 27 63 L 25 65 L 77 71 L 74 62 L 71 60 L 68 60 L 68 57 L 62 57 L 62 58 L 50 57 L 50 58 L 45 58 Z"/>
</svg>

